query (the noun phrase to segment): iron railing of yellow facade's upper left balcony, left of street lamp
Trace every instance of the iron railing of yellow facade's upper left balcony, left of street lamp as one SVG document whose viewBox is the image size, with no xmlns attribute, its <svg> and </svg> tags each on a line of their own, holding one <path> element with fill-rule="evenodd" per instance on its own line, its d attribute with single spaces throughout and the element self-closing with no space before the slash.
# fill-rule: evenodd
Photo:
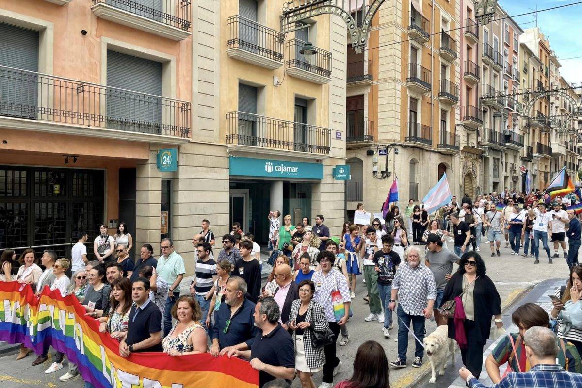
<svg viewBox="0 0 582 388">
<path fill-rule="evenodd" d="M 228 48 L 240 48 L 265 58 L 283 61 L 283 40 L 279 31 L 269 29 L 246 17 L 235 15 L 228 18 Z"/>
</svg>

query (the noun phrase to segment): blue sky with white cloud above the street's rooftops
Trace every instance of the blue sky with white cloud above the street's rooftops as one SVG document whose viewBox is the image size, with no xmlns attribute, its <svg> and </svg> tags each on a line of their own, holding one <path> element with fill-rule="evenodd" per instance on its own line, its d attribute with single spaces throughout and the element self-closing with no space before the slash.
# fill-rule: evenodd
<svg viewBox="0 0 582 388">
<path fill-rule="evenodd" d="M 537 9 L 553 8 L 579 0 L 499 0 L 499 4 L 510 16 L 533 12 Z M 560 76 L 569 83 L 582 83 L 582 3 L 564 8 L 538 12 L 538 27 L 549 40 L 550 47 L 558 55 Z M 535 27 L 534 15 L 513 17 L 521 29 Z M 580 56 L 576 59 L 567 59 Z"/>
</svg>

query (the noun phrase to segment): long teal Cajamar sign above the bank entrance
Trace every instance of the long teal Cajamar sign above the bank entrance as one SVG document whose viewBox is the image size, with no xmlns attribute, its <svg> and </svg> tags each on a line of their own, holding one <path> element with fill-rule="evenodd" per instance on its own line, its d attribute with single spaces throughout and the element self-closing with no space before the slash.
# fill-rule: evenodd
<svg viewBox="0 0 582 388">
<path fill-rule="evenodd" d="M 262 176 L 274 179 L 323 179 L 324 165 L 275 159 L 229 157 L 230 175 Z"/>
</svg>

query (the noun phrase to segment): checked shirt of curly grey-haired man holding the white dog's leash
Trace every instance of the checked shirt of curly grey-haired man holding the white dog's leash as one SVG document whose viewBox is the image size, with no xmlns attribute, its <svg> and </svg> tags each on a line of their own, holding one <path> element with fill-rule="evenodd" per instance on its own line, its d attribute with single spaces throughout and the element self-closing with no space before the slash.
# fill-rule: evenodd
<svg viewBox="0 0 582 388">
<path fill-rule="evenodd" d="M 408 263 L 400 265 L 392 281 L 392 289 L 398 290 L 400 307 L 409 315 L 424 315 L 427 300 L 437 299 L 435 277 L 430 268 L 422 263 L 415 268 L 410 268 Z"/>
</svg>

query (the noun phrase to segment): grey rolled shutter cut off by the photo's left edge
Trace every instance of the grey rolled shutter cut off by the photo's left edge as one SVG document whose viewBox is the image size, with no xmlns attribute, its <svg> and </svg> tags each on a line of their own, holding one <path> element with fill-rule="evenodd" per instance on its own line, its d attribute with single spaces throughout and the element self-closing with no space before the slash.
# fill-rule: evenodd
<svg viewBox="0 0 582 388">
<path fill-rule="evenodd" d="M 0 23 L 0 66 L 0 115 L 35 119 L 38 31 Z"/>
</svg>

